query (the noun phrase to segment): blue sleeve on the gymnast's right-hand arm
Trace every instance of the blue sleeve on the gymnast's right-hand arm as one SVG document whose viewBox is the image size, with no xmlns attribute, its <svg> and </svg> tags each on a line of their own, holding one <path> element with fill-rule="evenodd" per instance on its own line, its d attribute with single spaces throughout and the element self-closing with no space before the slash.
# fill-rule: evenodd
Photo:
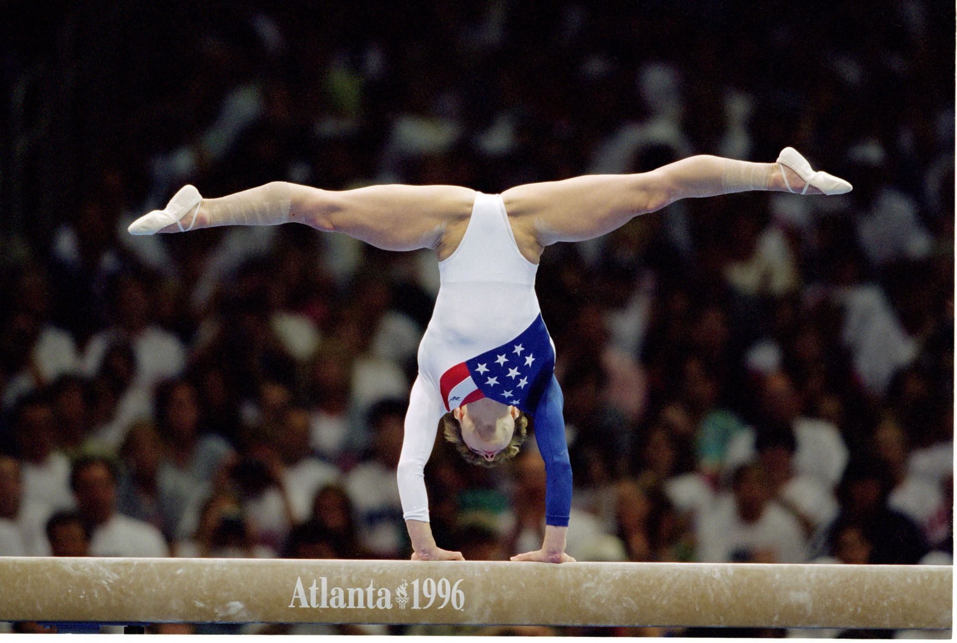
<svg viewBox="0 0 957 643">
<path fill-rule="evenodd" d="M 545 524 L 556 527 L 567 527 L 571 512 L 571 462 L 565 441 L 564 404 L 562 388 L 552 375 L 532 419 L 535 441 L 545 460 Z"/>
</svg>

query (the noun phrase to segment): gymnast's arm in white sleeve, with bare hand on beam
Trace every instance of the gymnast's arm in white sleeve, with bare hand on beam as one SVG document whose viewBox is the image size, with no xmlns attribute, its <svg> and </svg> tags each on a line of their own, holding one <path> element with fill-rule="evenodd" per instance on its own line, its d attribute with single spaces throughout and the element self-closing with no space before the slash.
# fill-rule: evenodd
<svg viewBox="0 0 957 643">
<path fill-rule="evenodd" d="M 413 561 L 465 560 L 460 552 L 440 549 L 429 526 L 429 498 L 423 471 L 429 455 L 432 455 L 438 421 L 445 412 L 439 399 L 431 382 L 421 375 L 415 378 L 396 471 L 402 514 L 412 541 Z"/>
</svg>

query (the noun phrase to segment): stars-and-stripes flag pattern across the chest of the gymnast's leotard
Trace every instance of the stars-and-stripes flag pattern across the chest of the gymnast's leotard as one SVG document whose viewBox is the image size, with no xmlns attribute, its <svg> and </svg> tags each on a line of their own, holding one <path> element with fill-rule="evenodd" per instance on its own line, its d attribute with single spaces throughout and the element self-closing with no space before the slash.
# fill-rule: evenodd
<svg viewBox="0 0 957 643">
<path fill-rule="evenodd" d="M 514 340 L 446 370 L 439 378 L 445 410 L 483 397 L 532 412 L 555 367 L 540 314 Z"/>
</svg>

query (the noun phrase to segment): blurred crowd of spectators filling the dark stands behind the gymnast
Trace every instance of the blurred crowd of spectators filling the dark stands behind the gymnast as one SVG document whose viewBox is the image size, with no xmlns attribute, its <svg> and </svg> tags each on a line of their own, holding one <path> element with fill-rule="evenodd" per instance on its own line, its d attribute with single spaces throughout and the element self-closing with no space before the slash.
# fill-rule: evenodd
<svg viewBox="0 0 957 643">
<path fill-rule="evenodd" d="M 36 96 L 5 125 L 26 148 L 3 186 L 0 555 L 411 554 L 395 466 L 434 255 L 295 225 L 125 233 L 183 184 L 497 192 L 793 145 L 854 191 L 684 201 L 546 250 L 568 553 L 950 564 L 952 11 L 602 7 L 118 0 L 8 22 L 0 79 Z M 492 470 L 437 444 L 426 478 L 439 546 L 540 546 L 534 440 Z"/>
</svg>

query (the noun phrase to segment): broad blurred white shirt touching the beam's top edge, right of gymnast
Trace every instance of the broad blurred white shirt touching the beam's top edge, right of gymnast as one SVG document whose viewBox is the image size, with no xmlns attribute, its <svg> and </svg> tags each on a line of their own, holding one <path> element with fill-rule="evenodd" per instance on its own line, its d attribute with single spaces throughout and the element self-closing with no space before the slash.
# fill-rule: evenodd
<svg viewBox="0 0 957 643">
<path fill-rule="evenodd" d="M 737 549 L 771 549 L 779 563 L 805 561 L 800 523 L 775 502 L 768 502 L 757 521 L 746 523 L 738 517 L 734 497 L 723 494 L 701 515 L 696 531 L 701 563 L 728 563 Z"/>
</svg>

